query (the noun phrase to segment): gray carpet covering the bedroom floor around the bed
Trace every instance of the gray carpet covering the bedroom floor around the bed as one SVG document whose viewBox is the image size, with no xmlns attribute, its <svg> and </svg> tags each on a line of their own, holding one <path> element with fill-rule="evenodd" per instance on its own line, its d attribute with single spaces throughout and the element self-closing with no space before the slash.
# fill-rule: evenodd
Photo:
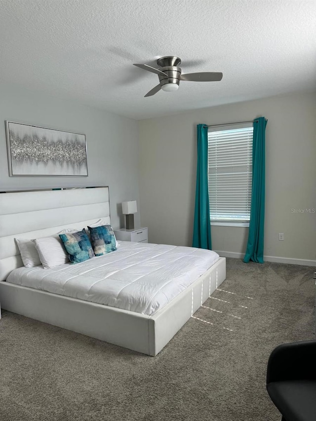
<svg viewBox="0 0 316 421">
<path fill-rule="evenodd" d="M 280 421 L 267 361 L 315 338 L 313 269 L 227 259 L 221 290 L 157 357 L 2 311 L 0 420 Z"/>
</svg>

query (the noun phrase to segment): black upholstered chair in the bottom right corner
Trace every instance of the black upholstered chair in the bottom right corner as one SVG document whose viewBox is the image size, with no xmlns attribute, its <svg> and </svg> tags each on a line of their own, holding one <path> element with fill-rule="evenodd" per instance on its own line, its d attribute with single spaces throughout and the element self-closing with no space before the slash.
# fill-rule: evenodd
<svg viewBox="0 0 316 421">
<path fill-rule="evenodd" d="M 267 390 L 283 421 L 316 421 L 316 341 L 277 346 L 268 361 Z"/>
</svg>

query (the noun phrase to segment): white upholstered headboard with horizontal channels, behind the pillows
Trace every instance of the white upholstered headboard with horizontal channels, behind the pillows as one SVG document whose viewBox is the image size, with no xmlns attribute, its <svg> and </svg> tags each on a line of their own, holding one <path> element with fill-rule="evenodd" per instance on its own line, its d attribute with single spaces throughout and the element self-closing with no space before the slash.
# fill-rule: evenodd
<svg viewBox="0 0 316 421">
<path fill-rule="evenodd" d="M 100 218 L 111 224 L 108 187 L 0 193 L 0 281 L 23 266 L 14 238 L 82 229 Z"/>
</svg>

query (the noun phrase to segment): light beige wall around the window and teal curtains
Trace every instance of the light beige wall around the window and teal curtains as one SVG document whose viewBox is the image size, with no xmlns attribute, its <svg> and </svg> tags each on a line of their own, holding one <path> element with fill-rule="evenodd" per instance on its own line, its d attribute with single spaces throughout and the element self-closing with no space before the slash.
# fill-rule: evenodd
<svg viewBox="0 0 316 421">
<path fill-rule="evenodd" d="M 266 128 L 266 260 L 288 259 L 290 263 L 316 260 L 316 213 L 291 211 L 316 209 L 315 92 L 140 121 L 141 224 L 148 226 L 150 242 L 192 244 L 196 125 L 252 120 L 261 115 L 269 120 Z M 278 232 L 284 233 L 284 241 L 278 241 Z M 247 228 L 212 227 L 211 233 L 214 250 L 233 257 L 245 252 Z"/>
</svg>

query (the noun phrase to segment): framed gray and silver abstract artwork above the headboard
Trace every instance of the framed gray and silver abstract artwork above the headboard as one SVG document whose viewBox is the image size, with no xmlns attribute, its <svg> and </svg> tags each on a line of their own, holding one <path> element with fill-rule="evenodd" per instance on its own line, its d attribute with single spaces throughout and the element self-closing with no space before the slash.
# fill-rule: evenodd
<svg viewBox="0 0 316 421">
<path fill-rule="evenodd" d="M 5 121 L 11 176 L 87 176 L 85 135 Z"/>
</svg>

